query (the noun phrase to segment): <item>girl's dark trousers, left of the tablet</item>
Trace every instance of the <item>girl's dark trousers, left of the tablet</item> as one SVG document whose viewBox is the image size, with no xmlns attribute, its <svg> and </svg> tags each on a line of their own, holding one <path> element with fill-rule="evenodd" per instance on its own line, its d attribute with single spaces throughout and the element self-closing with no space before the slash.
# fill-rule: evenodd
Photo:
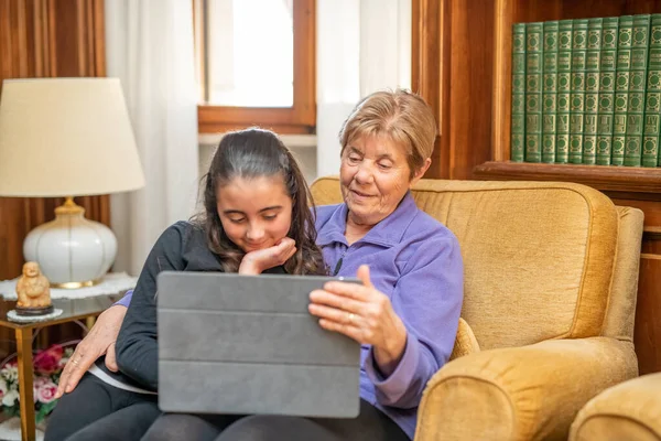
<svg viewBox="0 0 661 441">
<path fill-rule="evenodd" d="M 155 395 L 118 389 L 85 374 L 57 401 L 44 441 L 139 441 L 161 413 Z"/>
</svg>

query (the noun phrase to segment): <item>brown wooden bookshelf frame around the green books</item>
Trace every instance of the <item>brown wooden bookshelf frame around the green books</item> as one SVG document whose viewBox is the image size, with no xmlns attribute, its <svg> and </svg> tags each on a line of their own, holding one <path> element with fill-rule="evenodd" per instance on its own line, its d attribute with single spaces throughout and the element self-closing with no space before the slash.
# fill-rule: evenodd
<svg viewBox="0 0 661 441">
<path fill-rule="evenodd" d="M 642 209 L 644 232 L 635 344 L 640 373 L 647 374 L 661 372 L 661 292 L 658 288 L 661 283 L 661 168 L 510 161 L 512 24 L 643 13 L 661 13 L 661 1 L 495 0 L 490 160 L 476 164 L 472 178 L 576 182 L 604 192 L 617 205 Z"/>
</svg>

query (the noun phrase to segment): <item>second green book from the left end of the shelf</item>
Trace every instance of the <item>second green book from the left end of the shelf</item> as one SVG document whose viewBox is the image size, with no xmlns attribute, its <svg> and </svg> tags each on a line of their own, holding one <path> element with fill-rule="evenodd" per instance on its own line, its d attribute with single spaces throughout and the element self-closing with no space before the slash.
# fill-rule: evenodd
<svg viewBox="0 0 661 441">
<path fill-rule="evenodd" d="M 543 23 L 525 25 L 525 162 L 542 160 Z"/>
</svg>

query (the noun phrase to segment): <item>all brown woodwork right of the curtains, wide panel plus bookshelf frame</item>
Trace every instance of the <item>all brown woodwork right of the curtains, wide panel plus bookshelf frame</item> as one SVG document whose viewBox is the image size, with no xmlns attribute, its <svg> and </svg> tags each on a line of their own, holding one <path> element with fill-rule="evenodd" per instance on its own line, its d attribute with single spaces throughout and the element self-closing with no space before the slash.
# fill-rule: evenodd
<svg viewBox="0 0 661 441">
<path fill-rule="evenodd" d="M 636 345 L 641 373 L 661 372 L 659 170 L 506 162 L 512 23 L 661 13 L 661 0 L 413 0 L 412 11 L 413 88 L 441 128 L 427 178 L 582 182 L 642 209 Z"/>
</svg>

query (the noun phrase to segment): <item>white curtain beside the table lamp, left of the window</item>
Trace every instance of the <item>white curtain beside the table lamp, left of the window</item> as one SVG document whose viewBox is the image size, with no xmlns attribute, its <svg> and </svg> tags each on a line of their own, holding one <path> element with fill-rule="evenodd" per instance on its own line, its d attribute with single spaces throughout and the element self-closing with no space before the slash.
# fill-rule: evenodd
<svg viewBox="0 0 661 441">
<path fill-rule="evenodd" d="M 197 196 L 197 94 L 192 2 L 106 1 L 107 74 L 119 77 L 147 185 L 112 195 L 115 271 L 137 276 L 159 235 Z"/>
</svg>

